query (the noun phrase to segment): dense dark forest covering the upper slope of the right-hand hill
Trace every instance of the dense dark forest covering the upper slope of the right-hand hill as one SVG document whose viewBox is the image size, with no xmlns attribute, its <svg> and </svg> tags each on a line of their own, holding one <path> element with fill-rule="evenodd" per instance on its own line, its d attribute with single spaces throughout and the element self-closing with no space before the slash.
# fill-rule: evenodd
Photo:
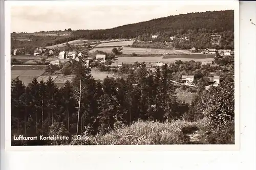
<svg viewBox="0 0 256 170">
<path fill-rule="evenodd" d="M 221 33 L 234 30 L 234 11 L 197 12 L 168 16 L 106 30 L 77 30 L 74 36 L 88 39 L 135 38 L 142 35 L 183 35 L 189 32 Z"/>
</svg>

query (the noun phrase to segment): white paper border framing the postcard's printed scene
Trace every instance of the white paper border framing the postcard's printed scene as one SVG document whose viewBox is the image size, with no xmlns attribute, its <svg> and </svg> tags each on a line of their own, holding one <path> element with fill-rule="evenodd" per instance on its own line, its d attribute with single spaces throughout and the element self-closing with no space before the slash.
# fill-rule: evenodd
<svg viewBox="0 0 256 170">
<path fill-rule="evenodd" d="M 93 145 L 93 146 L 43 146 L 43 147 L 18 147 L 18 146 L 11 146 L 11 116 L 10 116 L 10 7 L 13 5 L 46 5 L 51 3 L 54 5 L 68 5 L 68 4 L 80 4 L 83 5 L 156 5 L 159 3 L 166 3 L 166 5 L 170 5 L 174 3 L 174 1 L 7 1 L 5 2 L 5 147 L 8 151 L 79 151 L 81 149 L 87 151 L 166 151 L 166 150 L 239 150 L 240 148 L 240 141 L 239 141 L 239 3 L 233 1 L 185 1 L 186 5 L 209 5 L 214 3 L 214 5 L 228 5 L 234 8 L 234 46 L 235 46 L 235 121 L 236 121 L 236 139 L 235 144 L 233 145 Z M 176 3 L 176 2 L 175 2 Z M 178 3 L 184 3 L 179 1 Z"/>
</svg>

